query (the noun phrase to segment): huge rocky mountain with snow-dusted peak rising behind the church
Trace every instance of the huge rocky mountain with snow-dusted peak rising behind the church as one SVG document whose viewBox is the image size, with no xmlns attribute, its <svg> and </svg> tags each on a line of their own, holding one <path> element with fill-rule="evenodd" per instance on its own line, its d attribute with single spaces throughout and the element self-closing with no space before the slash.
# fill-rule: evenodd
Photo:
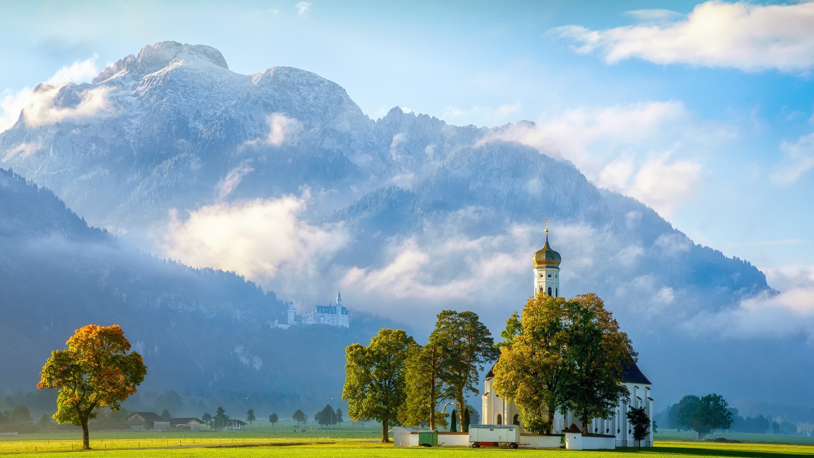
<svg viewBox="0 0 814 458">
<path fill-rule="evenodd" d="M 422 332 L 444 308 L 475 310 L 498 332 L 532 293 L 530 258 L 549 218 L 563 293 L 604 297 L 633 337 L 640 367 L 667 396 L 726 385 L 731 374 L 751 373 L 751 355 L 768 349 L 784 355 L 771 362 L 777 370 L 801 357 L 803 350 L 781 350 L 796 349 L 798 337 L 736 345 L 698 328 L 773 293 L 755 266 L 694 244 L 641 202 L 597 189 L 568 161 L 494 141 L 505 126 L 450 126 L 397 107 L 374 121 L 313 73 L 239 75 L 217 50 L 176 42 L 145 46 L 91 83 L 36 93 L 39 103 L 0 134 L 4 164 L 153 253 L 166 253 L 163 240 L 185 218 L 231 218 L 293 195 L 301 200 L 287 214 L 291 233 L 340 236 L 316 248 L 283 240 L 283 259 L 265 249 L 275 237 L 265 231 L 285 218 L 252 219 L 260 237 L 220 226 L 206 232 L 251 247 L 260 258 L 252 268 L 266 266 L 253 278 L 287 297 L 308 302 L 341 287 L 365 310 L 409 310 Z M 182 261 L 197 261 L 199 247 L 190 246 Z M 716 372 L 710 348 L 726 349 L 729 372 Z M 767 373 L 731 392 L 770 397 L 771 384 Z"/>
</svg>

